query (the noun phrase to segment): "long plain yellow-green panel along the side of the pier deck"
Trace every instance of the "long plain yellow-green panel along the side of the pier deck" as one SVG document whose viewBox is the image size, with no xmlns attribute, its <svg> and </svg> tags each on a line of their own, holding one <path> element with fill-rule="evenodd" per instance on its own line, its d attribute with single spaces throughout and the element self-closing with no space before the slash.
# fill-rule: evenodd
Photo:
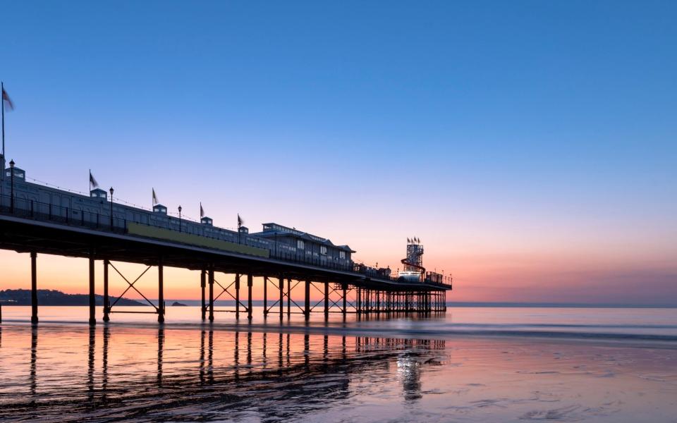
<svg viewBox="0 0 677 423">
<path fill-rule="evenodd" d="M 130 235 L 146 236 L 148 238 L 157 238 L 159 240 L 174 241 L 176 243 L 197 245 L 199 247 L 214 248 L 216 250 L 239 252 L 246 255 L 254 255 L 257 257 L 270 257 L 270 252 L 263 248 L 250 247 L 249 245 L 240 245 L 236 243 L 229 243 L 228 241 L 214 240 L 212 238 L 205 238 L 199 235 L 190 233 L 181 233 L 176 231 L 169 231 L 169 229 L 154 228 L 153 226 L 145 226 L 140 223 L 127 223 L 127 232 Z"/>
</svg>

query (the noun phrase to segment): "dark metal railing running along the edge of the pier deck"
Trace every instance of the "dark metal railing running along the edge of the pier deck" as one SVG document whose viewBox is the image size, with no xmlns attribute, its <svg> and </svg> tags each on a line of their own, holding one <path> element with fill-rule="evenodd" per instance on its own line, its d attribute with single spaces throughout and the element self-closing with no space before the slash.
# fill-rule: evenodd
<svg viewBox="0 0 677 423">
<path fill-rule="evenodd" d="M 32 219 L 35 221 L 45 221 L 51 223 L 61 223 L 65 226 L 73 226 L 79 228 L 92 229 L 94 231 L 102 231 L 104 233 L 118 233 L 118 234 L 128 234 L 128 223 L 133 222 L 135 224 L 150 226 L 154 228 L 162 228 L 169 231 L 180 232 L 183 228 L 183 223 L 175 217 L 171 217 L 169 224 L 160 226 L 153 225 L 150 223 L 145 223 L 142 221 L 137 221 L 135 219 L 128 220 L 125 217 L 116 216 L 116 213 L 104 214 L 101 212 L 87 212 L 84 209 L 74 209 L 72 207 L 63 207 L 56 204 L 51 204 L 48 202 L 39 202 L 36 200 L 27 200 L 22 197 L 11 198 L 10 195 L 0 195 L 0 213 L 5 215 L 16 216 L 24 219 Z M 176 222 L 173 222 L 176 221 Z M 172 224 L 173 223 L 173 224 Z M 186 222 L 188 223 L 188 222 Z M 190 221 L 190 223 L 195 223 Z M 237 235 L 237 234 L 236 234 Z M 244 236 L 238 237 L 237 243 L 240 245 L 248 245 L 249 247 L 260 248 L 261 245 L 255 241 L 252 235 L 243 234 Z M 217 236 L 209 236 L 209 234 L 201 234 L 203 238 L 209 238 L 214 240 L 224 240 Z M 176 241 L 173 241 L 176 242 Z M 189 244 L 190 245 L 190 244 Z M 357 264 L 354 262 L 336 262 L 332 259 L 327 259 L 322 256 L 315 257 L 305 254 L 305 253 L 294 253 L 288 251 L 281 251 L 277 243 L 273 243 L 272 247 L 269 250 L 269 257 L 272 259 L 279 259 L 283 262 L 295 263 L 295 264 L 309 264 L 312 266 L 319 266 L 326 269 L 338 270 L 338 271 L 348 271 L 355 274 L 360 274 L 370 278 L 377 278 L 380 280 L 391 281 L 394 283 L 411 283 L 410 281 L 405 281 L 401 278 L 396 278 L 395 276 L 389 276 L 383 274 L 378 269 L 372 267 L 364 266 L 363 264 Z M 427 285 L 439 286 L 440 288 L 451 288 L 451 278 L 445 277 L 443 281 L 433 280 L 424 276 L 421 283 Z"/>
</svg>

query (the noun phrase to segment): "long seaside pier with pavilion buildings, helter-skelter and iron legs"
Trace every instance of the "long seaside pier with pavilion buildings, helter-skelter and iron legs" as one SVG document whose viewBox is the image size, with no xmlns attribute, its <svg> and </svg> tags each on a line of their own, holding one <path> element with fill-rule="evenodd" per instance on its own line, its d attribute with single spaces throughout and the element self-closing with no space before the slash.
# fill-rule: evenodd
<svg viewBox="0 0 677 423">
<path fill-rule="evenodd" d="M 404 276 L 391 269 L 353 262 L 348 245 L 288 228 L 264 223 L 260 233 L 250 233 L 239 224 L 231 231 L 214 226 L 208 216 L 199 222 L 171 216 L 162 204 L 152 210 L 116 202 L 114 189 L 92 187 L 89 195 L 29 182 L 26 172 L 14 161 L 6 166 L 0 156 L 0 248 L 30 255 L 32 290 L 31 321 L 39 321 L 37 303 L 38 257 L 41 254 L 88 259 L 89 323 L 97 323 L 95 269 L 103 266 L 104 309 L 101 319 L 116 312 L 157 314 L 164 322 L 164 267 L 190 269 L 195 289 L 202 299 L 201 317 L 214 321 L 219 312 L 232 312 L 237 319 L 252 319 L 254 278 L 262 278 L 264 317 L 279 319 L 313 312 L 343 315 L 417 313 L 446 310 L 451 278 L 427 272 L 420 264 L 422 246 L 410 240 L 403 259 Z M 90 178 L 92 180 L 92 178 Z M 94 184 L 97 185 L 97 184 Z M 416 240 L 417 241 L 417 240 Z M 416 256 L 418 254 L 418 256 Z M 126 275 L 116 263 L 142 264 L 139 275 Z M 137 282 L 157 268 L 157 290 L 153 302 Z M 85 269 L 83 269 L 85 271 Z M 116 274 L 126 281 L 119 295 L 109 292 L 109 278 Z M 246 290 L 246 300 L 243 300 Z M 298 295 L 302 290 L 303 294 Z M 139 311 L 120 310 L 116 303 L 126 293 L 138 293 L 148 304 Z M 319 301 L 312 300 L 320 295 Z M 216 300 L 233 300 L 234 307 L 219 308 Z"/>
</svg>

